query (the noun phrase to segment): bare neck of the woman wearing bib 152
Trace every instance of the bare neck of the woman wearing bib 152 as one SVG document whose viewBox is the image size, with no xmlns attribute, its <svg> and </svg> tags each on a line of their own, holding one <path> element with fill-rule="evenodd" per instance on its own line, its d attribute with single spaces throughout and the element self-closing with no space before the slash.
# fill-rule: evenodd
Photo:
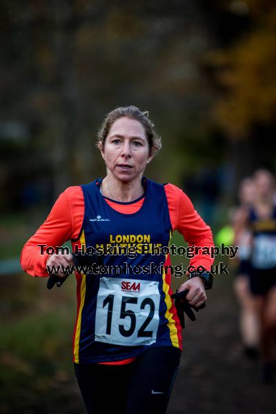
<svg viewBox="0 0 276 414">
<path fill-rule="evenodd" d="M 103 197 L 127 203 L 141 197 L 144 194 L 144 187 L 141 184 L 141 177 L 125 183 L 112 175 L 107 175 L 101 181 L 101 193 Z"/>
</svg>

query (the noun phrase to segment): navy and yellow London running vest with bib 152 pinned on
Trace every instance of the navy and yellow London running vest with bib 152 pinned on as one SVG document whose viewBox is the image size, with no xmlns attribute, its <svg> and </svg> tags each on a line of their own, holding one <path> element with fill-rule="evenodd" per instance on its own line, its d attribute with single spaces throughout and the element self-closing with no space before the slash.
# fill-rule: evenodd
<svg viewBox="0 0 276 414">
<path fill-rule="evenodd" d="M 123 214 L 106 203 L 100 182 L 81 186 L 85 210 L 79 245 L 86 251 L 135 246 L 139 253 L 102 255 L 103 273 L 77 275 L 74 361 L 118 361 L 153 346 L 181 348 L 164 273 L 166 255 L 153 254 L 169 245 L 172 234 L 164 185 L 144 177 L 143 205 L 137 213 Z M 143 254 L 142 245 L 151 253 Z"/>
</svg>

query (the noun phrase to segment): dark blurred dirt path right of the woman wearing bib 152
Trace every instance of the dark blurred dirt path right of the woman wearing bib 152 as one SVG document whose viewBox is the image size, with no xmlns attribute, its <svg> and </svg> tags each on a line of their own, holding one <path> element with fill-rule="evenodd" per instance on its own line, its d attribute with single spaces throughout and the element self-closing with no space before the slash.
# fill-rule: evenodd
<svg viewBox="0 0 276 414">
<path fill-rule="evenodd" d="M 197 322 L 188 321 L 184 330 L 184 352 L 168 414 L 276 413 L 276 381 L 262 384 L 259 363 L 242 355 L 233 279 L 223 278 L 215 281 Z"/>
</svg>

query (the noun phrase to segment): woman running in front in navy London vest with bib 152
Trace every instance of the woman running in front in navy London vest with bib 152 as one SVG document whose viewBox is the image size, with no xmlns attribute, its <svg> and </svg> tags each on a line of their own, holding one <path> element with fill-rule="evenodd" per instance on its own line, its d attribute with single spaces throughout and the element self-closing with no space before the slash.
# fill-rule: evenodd
<svg viewBox="0 0 276 414">
<path fill-rule="evenodd" d="M 179 368 L 182 338 L 170 297 L 171 275 L 165 273 L 170 256 L 154 254 L 155 248 L 168 247 L 174 230 L 190 246 L 213 246 L 213 237 L 181 189 L 144 177 L 161 148 L 148 112 L 134 106 L 112 110 L 98 138 L 106 177 L 69 187 L 59 196 L 23 247 L 21 266 L 34 277 L 47 277 L 49 266 L 74 263 L 70 254 L 41 255 L 39 244 L 62 246 L 71 240 L 73 251 L 76 246 L 86 251 L 126 245 L 137 249 L 131 258 L 101 256 L 105 266 L 125 266 L 124 274 L 76 273 L 73 362 L 88 413 L 161 414 Z M 148 253 L 143 254 L 141 244 Z M 203 275 L 190 273 L 179 288 L 188 290 L 191 306 L 206 301 L 212 262 L 208 255 L 191 259 L 195 269 L 206 269 Z M 140 267 L 137 273 L 138 266 L 144 266 L 143 272 Z M 57 275 L 65 276 L 62 270 Z"/>
</svg>

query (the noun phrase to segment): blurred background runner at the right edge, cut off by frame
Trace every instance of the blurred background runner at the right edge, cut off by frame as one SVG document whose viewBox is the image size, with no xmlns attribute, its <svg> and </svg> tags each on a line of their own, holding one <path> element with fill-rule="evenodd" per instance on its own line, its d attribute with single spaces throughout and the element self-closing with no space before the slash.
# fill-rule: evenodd
<svg viewBox="0 0 276 414">
<path fill-rule="evenodd" d="M 248 221 L 253 232 L 250 290 L 260 323 L 262 379 L 271 382 L 276 362 L 276 206 L 275 179 L 267 170 L 254 175 L 255 197 Z"/>
</svg>

